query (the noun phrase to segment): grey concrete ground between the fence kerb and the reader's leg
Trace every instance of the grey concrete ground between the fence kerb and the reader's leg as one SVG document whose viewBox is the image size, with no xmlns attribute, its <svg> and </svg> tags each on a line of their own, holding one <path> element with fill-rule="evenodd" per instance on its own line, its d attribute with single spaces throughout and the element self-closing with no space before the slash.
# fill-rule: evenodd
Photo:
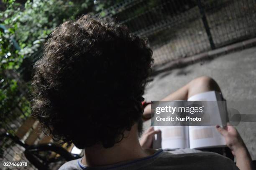
<svg viewBox="0 0 256 170">
<path fill-rule="evenodd" d="M 158 74 L 148 84 L 144 97 L 147 101 L 161 100 L 199 76 L 215 79 L 227 101 L 256 105 L 256 47 Z M 249 108 L 245 114 L 256 114 L 256 110 Z M 150 121 L 144 123 L 144 129 L 149 126 Z M 236 128 L 256 160 L 256 122 L 240 122 Z"/>
</svg>

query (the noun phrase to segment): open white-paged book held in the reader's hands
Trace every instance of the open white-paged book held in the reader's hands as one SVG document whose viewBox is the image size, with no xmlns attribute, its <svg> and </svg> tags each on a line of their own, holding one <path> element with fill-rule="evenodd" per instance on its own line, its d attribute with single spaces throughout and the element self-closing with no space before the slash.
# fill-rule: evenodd
<svg viewBox="0 0 256 170">
<path fill-rule="evenodd" d="M 223 100 L 216 91 L 208 91 L 190 97 L 190 101 L 219 101 Z M 218 110 L 218 109 L 217 109 Z M 214 112 L 222 124 L 220 113 Z M 214 126 L 154 126 L 161 130 L 161 136 L 156 135 L 153 148 L 179 149 L 179 148 L 206 148 L 223 147 L 226 145 L 224 137 Z"/>
</svg>

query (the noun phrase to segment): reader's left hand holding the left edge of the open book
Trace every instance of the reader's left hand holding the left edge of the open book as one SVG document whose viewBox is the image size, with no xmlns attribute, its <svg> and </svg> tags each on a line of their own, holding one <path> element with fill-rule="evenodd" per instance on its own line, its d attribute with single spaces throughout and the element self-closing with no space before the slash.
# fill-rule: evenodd
<svg viewBox="0 0 256 170">
<path fill-rule="evenodd" d="M 160 134 L 160 130 L 154 130 L 154 127 L 150 127 L 141 137 L 140 144 L 144 149 L 152 148 L 154 135 Z"/>
</svg>

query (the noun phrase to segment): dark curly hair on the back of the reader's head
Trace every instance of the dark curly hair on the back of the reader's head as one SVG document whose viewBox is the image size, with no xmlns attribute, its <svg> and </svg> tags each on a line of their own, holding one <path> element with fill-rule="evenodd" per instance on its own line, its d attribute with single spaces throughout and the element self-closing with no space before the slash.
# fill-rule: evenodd
<svg viewBox="0 0 256 170">
<path fill-rule="evenodd" d="M 33 116 L 54 140 L 112 147 L 140 121 L 153 63 L 146 39 L 84 15 L 57 27 L 34 64 Z"/>
</svg>

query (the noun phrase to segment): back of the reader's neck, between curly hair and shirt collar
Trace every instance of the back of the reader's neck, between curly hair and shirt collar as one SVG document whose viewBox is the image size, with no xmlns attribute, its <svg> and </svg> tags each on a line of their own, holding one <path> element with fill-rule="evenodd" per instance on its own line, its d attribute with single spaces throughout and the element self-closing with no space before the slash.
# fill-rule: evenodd
<svg viewBox="0 0 256 170">
<path fill-rule="evenodd" d="M 85 148 L 82 164 L 89 167 L 112 165 L 146 157 L 154 153 L 152 150 L 144 150 L 141 147 L 138 140 L 137 124 L 133 125 L 131 131 L 125 132 L 125 135 L 121 142 L 107 149 L 101 145 Z"/>
</svg>

